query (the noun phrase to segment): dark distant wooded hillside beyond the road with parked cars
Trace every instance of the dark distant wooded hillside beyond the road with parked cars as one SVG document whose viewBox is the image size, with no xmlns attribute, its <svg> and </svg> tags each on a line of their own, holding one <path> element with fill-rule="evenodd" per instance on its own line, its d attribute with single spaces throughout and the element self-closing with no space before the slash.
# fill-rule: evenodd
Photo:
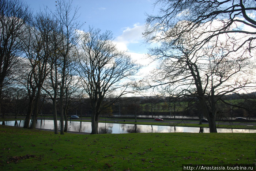
<svg viewBox="0 0 256 171">
<path fill-rule="evenodd" d="M 14 93 L 15 92 L 15 93 Z M 17 95 L 19 92 L 19 95 Z M 15 94 L 15 95 L 14 95 Z M 230 94 L 226 95 L 222 101 L 218 102 L 217 119 L 230 117 L 256 117 L 256 92 L 250 94 Z M 28 111 L 29 98 L 26 93 L 19 91 L 5 92 L 1 101 L 1 113 L 4 117 L 6 114 L 26 115 Z M 41 98 L 39 115 L 51 115 L 52 100 Z M 90 115 L 92 110 L 90 100 L 87 98 L 73 98 L 69 104 L 68 115 L 86 116 Z M 57 103 L 58 114 L 60 106 Z M 109 115 L 168 115 L 174 117 L 180 116 L 198 116 L 200 115 L 200 106 L 197 99 L 193 97 L 162 97 L 162 96 L 141 96 L 141 97 L 123 97 L 107 107 L 102 116 Z"/>
</svg>

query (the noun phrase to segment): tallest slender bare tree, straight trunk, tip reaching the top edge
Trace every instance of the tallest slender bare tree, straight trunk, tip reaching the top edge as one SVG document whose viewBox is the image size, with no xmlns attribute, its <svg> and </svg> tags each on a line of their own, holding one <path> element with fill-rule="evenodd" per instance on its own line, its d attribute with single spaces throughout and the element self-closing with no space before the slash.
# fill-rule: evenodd
<svg viewBox="0 0 256 171">
<path fill-rule="evenodd" d="M 74 47 L 79 41 L 78 31 L 80 24 L 76 22 L 78 18 L 78 8 L 72 11 L 72 1 L 58 0 L 56 1 L 55 17 L 59 22 L 61 43 L 59 53 L 61 55 L 61 84 L 60 84 L 60 134 L 64 134 L 64 97 L 65 83 L 67 83 L 68 65 L 72 64 L 72 56 L 74 55 Z"/>
</svg>

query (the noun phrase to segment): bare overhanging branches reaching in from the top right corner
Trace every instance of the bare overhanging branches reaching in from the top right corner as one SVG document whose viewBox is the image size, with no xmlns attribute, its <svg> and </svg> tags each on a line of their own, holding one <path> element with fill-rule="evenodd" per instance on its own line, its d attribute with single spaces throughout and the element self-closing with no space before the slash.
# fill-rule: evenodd
<svg viewBox="0 0 256 171">
<path fill-rule="evenodd" d="M 198 32 L 198 27 L 204 25 L 197 37 L 197 45 L 203 46 L 212 38 L 225 34 L 243 34 L 239 43 L 233 40 L 233 51 L 246 46 L 255 48 L 256 21 L 253 19 L 256 11 L 256 1 L 253 0 L 157 0 L 161 5 L 159 15 L 148 15 L 147 28 L 144 33 L 149 41 L 156 39 L 184 37 L 184 34 Z M 182 29 L 178 28 L 182 23 Z M 222 24 L 219 24 L 222 23 Z M 170 32 L 170 28 L 177 32 Z M 211 28 L 211 29 L 209 29 Z M 156 34 L 161 33 L 161 34 Z M 200 40 L 200 41 L 199 41 Z M 237 44 L 237 45 L 236 45 Z"/>
</svg>

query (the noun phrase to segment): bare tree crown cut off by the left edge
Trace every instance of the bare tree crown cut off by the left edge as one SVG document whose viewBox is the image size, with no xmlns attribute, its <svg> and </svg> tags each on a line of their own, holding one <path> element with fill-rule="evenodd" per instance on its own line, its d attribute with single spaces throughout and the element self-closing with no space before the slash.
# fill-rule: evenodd
<svg viewBox="0 0 256 171">
<path fill-rule="evenodd" d="M 3 87 L 10 83 L 19 64 L 19 41 L 29 19 L 30 12 L 22 1 L 0 0 L 0 100 Z"/>
</svg>

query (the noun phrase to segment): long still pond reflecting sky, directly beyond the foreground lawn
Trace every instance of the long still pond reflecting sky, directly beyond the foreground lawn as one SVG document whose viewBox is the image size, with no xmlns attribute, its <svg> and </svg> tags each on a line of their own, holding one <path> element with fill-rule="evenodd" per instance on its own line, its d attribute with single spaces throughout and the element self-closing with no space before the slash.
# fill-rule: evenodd
<svg viewBox="0 0 256 171">
<path fill-rule="evenodd" d="M 3 123 L 2 123 L 3 124 Z M 8 126 L 23 127 L 24 120 L 5 121 Z M 60 130 L 60 121 L 58 121 Z M 124 133 L 169 133 L 169 132 L 191 132 L 209 133 L 208 128 L 184 127 L 184 126 L 159 126 L 159 125 L 135 125 L 123 123 L 99 123 L 99 133 L 124 134 Z M 38 119 L 36 128 L 53 130 L 53 120 Z M 91 133 L 91 122 L 68 121 L 68 131 Z M 255 129 L 224 129 L 217 128 L 219 133 L 256 133 Z"/>
</svg>

